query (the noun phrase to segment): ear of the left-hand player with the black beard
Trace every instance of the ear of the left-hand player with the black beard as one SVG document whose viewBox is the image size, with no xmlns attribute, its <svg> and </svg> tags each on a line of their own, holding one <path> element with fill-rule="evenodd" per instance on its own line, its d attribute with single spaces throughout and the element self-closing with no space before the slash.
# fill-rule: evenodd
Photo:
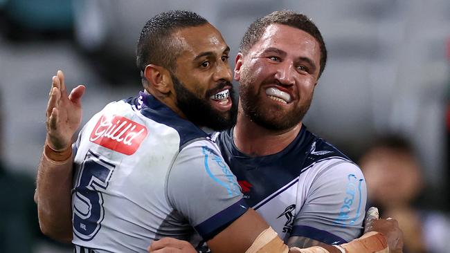
<svg viewBox="0 0 450 253">
<path fill-rule="evenodd" d="M 148 64 L 145 66 L 144 77 L 152 88 L 160 93 L 170 93 L 172 89 L 172 78 L 170 72 L 161 66 Z"/>
</svg>

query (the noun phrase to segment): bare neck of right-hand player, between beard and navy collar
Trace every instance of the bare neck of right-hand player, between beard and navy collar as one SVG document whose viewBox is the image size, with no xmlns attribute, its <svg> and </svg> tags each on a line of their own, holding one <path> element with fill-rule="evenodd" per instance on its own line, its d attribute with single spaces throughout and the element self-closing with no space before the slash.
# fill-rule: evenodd
<svg viewBox="0 0 450 253">
<path fill-rule="evenodd" d="M 291 129 L 273 131 L 255 124 L 240 112 L 233 129 L 233 139 L 242 153 L 249 156 L 268 156 L 285 149 L 296 138 L 301 126 L 300 122 Z"/>
</svg>

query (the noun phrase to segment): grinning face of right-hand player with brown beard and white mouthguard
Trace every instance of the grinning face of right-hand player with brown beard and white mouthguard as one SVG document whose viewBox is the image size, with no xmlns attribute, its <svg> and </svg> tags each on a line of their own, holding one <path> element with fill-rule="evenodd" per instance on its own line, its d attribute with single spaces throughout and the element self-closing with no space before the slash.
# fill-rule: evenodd
<svg viewBox="0 0 450 253">
<path fill-rule="evenodd" d="M 298 124 L 312 101 L 320 57 L 318 42 L 307 32 L 267 26 L 246 55 L 236 58 L 235 79 L 246 116 L 271 130 Z"/>
</svg>

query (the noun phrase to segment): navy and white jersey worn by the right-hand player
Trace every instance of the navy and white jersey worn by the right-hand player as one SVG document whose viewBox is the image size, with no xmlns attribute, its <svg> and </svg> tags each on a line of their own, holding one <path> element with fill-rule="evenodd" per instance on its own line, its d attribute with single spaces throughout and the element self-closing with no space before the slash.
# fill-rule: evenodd
<svg viewBox="0 0 450 253">
<path fill-rule="evenodd" d="M 305 126 L 288 147 L 270 156 L 240 152 L 233 129 L 216 142 L 248 205 L 286 242 L 304 236 L 340 244 L 361 234 L 367 198 L 361 169 Z"/>
</svg>

